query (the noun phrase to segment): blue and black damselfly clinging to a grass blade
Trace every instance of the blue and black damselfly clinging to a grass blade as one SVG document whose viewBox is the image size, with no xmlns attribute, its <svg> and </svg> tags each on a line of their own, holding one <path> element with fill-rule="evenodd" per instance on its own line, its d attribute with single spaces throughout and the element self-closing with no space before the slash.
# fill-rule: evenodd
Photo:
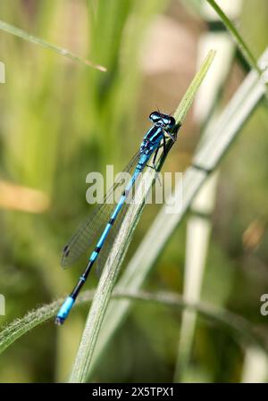
<svg viewBox="0 0 268 401">
<path fill-rule="evenodd" d="M 132 158 L 125 169 L 125 171 L 132 171 L 132 175 L 130 181 L 122 191 L 118 204 L 114 207 L 113 204 L 111 206 L 108 201 L 110 196 L 113 195 L 115 188 L 120 185 L 120 180 L 115 181 L 113 187 L 105 195 L 104 203 L 96 206 L 96 209 L 89 215 L 88 219 L 81 224 L 80 228 L 63 248 L 62 265 L 64 267 L 78 259 L 80 255 L 94 243 L 96 238 L 99 238 L 98 241 L 96 241 L 95 249 L 90 255 L 85 272 L 80 276 L 77 285 L 71 291 L 70 296 L 65 299 L 57 314 L 55 319 L 56 324 L 63 324 L 67 318 L 96 259 L 102 258 L 103 262 L 105 262 L 120 229 L 121 221 L 123 221 L 121 209 L 126 205 L 126 199 L 130 194 L 130 190 L 138 180 L 141 172 L 145 170 L 152 156 L 153 166 L 151 167 L 155 168 L 155 160 L 159 149 L 163 147 L 163 153 L 166 153 L 167 137 L 171 138 L 173 142 L 177 138 L 177 131 L 180 127 L 176 126 L 176 121 L 171 115 L 153 112 L 149 115 L 149 120 L 153 122 L 153 126 L 148 129 L 139 146 L 138 153 Z"/>
</svg>

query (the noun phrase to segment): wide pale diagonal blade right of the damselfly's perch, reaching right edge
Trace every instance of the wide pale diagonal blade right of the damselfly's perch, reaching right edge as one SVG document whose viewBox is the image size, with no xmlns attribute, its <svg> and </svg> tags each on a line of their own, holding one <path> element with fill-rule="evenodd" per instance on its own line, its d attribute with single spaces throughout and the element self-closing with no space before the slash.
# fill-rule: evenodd
<svg viewBox="0 0 268 401">
<path fill-rule="evenodd" d="M 264 53 L 260 63 L 263 63 L 267 58 L 268 51 Z M 200 167 L 204 166 L 204 169 L 202 171 L 191 167 L 186 171 L 183 180 L 183 204 L 181 205 L 180 213 L 167 216 L 163 205 L 163 209 L 158 213 L 150 230 L 147 231 L 146 237 L 138 247 L 138 251 L 130 261 L 116 288 L 128 288 L 131 291 L 137 291 L 141 288 L 155 260 L 172 236 L 173 230 L 178 227 L 183 216 L 187 213 L 188 207 L 191 205 L 198 189 L 203 186 L 210 171 L 214 171 L 218 166 L 222 156 L 226 154 L 231 142 L 238 136 L 242 125 L 253 113 L 264 94 L 265 84 L 262 77 L 259 78 L 255 71 L 251 71 L 235 96 L 233 96 L 230 104 L 215 122 L 214 127 L 210 132 L 205 132 L 205 139 L 197 150 L 194 160 L 195 164 L 200 164 Z M 149 253 L 148 249 L 150 249 Z M 94 372 L 94 368 L 105 351 L 105 347 L 121 325 L 129 309 L 130 302 L 127 300 L 116 304 L 112 302 L 109 306 L 105 316 L 104 330 L 101 330 L 98 338 L 90 373 Z"/>
</svg>

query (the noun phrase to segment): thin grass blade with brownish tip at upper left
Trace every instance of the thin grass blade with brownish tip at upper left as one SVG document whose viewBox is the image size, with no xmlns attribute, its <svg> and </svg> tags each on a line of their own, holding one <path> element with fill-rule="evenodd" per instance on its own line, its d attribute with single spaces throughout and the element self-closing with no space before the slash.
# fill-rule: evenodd
<svg viewBox="0 0 268 401">
<path fill-rule="evenodd" d="M 46 42 L 46 40 L 38 38 L 34 35 L 30 35 L 28 32 L 25 32 L 25 30 L 19 29 L 17 27 L 14 27 L 13 25 L 5 22 L 5 21 L 0 21 L 0 29 L 4 30 L 5 32 L 11 33 L 12 35 L 27 40 L 30 43 L 34 43 L 35 45 L 42 46 L 48 50 L 52 50 L 54 53 L 61 54 L 65 57 L 71 58 L 71 60 L 75 62 L 82 63 L 84 65 L 87 65 L 88 67 L 92 67 L 98 71 L 106 71 L 106 68 L 103 65 L 99 65 L 93 62 L 90 62 L 89 60 L 86 60 L 76 54 L 71 53 L 69 50 L 64 49 L 59 46 L 55 46 L 51 43 Z"/>
</svg>

